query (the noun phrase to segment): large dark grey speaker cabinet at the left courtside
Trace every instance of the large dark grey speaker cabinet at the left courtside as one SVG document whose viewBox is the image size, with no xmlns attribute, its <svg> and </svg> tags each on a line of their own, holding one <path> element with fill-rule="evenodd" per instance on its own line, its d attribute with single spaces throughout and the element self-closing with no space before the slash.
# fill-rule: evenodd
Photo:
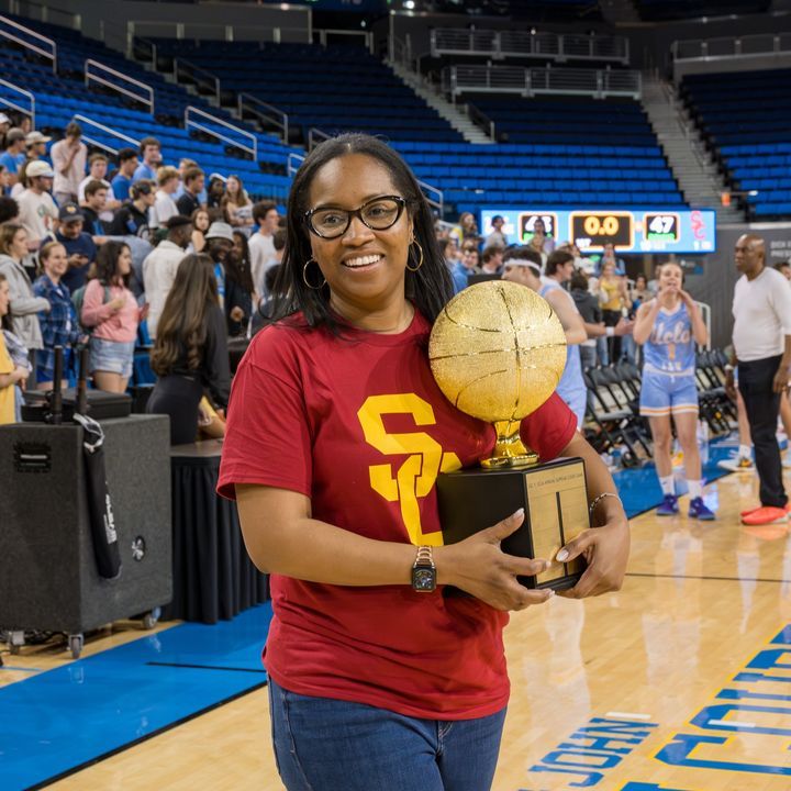
<svg viewBox="0 0 791 791">
<path fill-rule="evenodd" d="M 121 575 L 102 579 L 88 523 L 82 428 L 0 426 L 0 626 L 80 634 L 172 595 L 170 428 L 101 421 Z"/>
</svg>

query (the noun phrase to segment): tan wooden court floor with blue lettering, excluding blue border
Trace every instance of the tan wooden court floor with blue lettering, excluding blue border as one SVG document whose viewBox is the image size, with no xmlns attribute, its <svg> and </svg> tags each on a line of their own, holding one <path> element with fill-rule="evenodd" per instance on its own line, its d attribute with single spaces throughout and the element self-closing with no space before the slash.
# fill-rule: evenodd
<svg viewBox="0 0 791 791">
<path fill-rule="evenodd" d="M 756 489 L 753 476 L 711 484 L 714 523 L 636 517 L 620 593 L 512 617 L 495 791 L 791 789 L 791 530 L 739 524 Z M 140 636 L 100 637 L 86 654 Z M 68 659 L 14 657 L 25 661 Z M 51 788 L 280 790 L 268 728 L 259 690 Z"/>
</svg>

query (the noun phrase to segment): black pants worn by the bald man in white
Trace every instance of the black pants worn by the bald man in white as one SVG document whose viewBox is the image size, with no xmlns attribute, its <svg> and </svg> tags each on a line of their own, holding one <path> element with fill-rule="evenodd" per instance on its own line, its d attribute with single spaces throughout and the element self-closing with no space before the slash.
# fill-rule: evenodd
<svg viewBox="0 0 791 791">
<path fill-rule="evenodd" d="M 783 508 L 788 502 L 782 483 L 782 463 L 777 444 L 777 419 L 780 412 L 780 393 L 772 382 L 781 356 L 739 363 L 739 392 L 747 410 L 756 467 L 760 480 L 761 505 Z"/>
</svg>

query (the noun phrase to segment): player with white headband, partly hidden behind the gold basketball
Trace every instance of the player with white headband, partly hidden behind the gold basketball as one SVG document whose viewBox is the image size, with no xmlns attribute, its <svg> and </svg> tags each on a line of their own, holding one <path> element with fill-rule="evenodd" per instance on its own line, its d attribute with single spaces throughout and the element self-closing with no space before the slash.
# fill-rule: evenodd
<svg viewBox="0 0 791 791">
<path fill-rule="evenodd" d="M 569 253 L 560 253 L 565 258 L 556 259 L 562 268 L 573 263 Z M 562 263 L 559 263 L 562 261 Z M 557 394 L 568 404 L 577 416 L 577 428 L 584 420 L 587 389 L 582 378 L 579 344 L 588 338 L 577 307 L 571 297 L 560 288 L 559 280 L 542 280 L 542 255 L 532 245 L 512 245 L 503 254 L 503 280 L 510 280 L 535 291 L 543 297 L 557 313 L 566 332 L 566 368 L 557 387 Z M 560 276 L 558 276 L 560 277 Z"/>
</svg>

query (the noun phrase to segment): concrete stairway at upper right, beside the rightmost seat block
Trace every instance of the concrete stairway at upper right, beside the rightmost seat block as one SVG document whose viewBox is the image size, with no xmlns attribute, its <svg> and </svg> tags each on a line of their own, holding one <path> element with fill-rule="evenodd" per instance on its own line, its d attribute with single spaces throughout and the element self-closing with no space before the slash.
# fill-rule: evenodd
<svg viewBox="0 0 791 791">
<path fill-rule="evenodd" d="M 715 209 L 720 223 L 744 222 L 738 209 L 721 205 L 728 188 L 672 86 L 644 71 L 643 107 L 684 200 L 694 209 Z"/>
</svg>

